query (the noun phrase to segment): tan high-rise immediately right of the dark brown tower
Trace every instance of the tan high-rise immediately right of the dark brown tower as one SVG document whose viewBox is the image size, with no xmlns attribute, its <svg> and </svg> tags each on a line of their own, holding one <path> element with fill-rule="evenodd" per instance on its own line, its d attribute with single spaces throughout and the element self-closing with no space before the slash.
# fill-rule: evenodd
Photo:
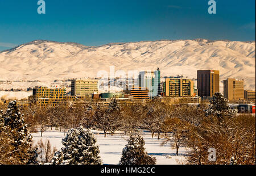
<svg viewBox="0 0 256 176">
<path fill-rule="evenodd" d="M 224 80 L 224 97 L 229 101 L 243 100 L 243 79 L 228 78 Z"/>
</svg>

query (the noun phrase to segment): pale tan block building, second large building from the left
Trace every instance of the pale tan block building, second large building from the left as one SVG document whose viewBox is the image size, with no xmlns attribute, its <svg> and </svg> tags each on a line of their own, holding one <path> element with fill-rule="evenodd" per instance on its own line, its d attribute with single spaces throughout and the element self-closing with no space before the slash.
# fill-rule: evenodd
<svg viewBox="0 0 256 176">
<path fill-rule="evenodd" d="M 71 96 L 84 96 L 92 99 L 93 94 L 98 94 L 97 79 L 74 79 L 71 81 Z"/>
</svg>

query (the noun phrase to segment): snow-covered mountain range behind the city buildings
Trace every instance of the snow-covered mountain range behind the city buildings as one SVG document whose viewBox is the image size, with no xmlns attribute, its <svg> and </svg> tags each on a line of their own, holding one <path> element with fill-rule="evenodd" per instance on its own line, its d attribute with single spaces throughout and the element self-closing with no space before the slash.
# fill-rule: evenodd
<svg viewBox="0 0 256 176">
<path fill-rule="evenodd" d="M 196 78 L 196 70 L 220 70 L 255 89 L 255 41 L 159 40 L 86 47 L 35 40 L 0 52 L 0 81 L 96 77 L 99 70 L 155 70 L 161 76 Z"/>
</svg>

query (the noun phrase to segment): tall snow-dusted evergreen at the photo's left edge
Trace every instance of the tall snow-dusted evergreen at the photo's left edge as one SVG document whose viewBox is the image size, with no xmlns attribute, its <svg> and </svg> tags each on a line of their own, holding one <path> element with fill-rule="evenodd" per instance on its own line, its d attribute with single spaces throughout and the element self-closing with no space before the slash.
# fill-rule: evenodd
<svg viewBox="0 0 256 176">
<path fill-rule="evenodd" d="M 19 158 L 20 164 L 34 164 L 34 152 L 31 149 L 32 136 L 28 133 L 27 124 L 24 124 L 23 114 L 17 106 L 16 100 L 11 101 L 6 112 L 2 115 L 3 128 L 9 135 L 10 144 L 13 151 L 10 152 L 10 158 Z"/>
</svg>

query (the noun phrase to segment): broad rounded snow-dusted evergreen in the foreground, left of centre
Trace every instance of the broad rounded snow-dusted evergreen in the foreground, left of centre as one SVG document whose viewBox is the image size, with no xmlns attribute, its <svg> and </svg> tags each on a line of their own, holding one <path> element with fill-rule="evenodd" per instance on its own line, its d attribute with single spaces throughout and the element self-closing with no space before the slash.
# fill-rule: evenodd
<svg viewBox="0 0 256 176">
<path fill-rule="evenodd" d="M 100 165 L 102 164 L 99 147 L 89 129 L 70 129 L 63 139 L 63 148 L 55 153 L 53 165 Z"/>
</svg>

